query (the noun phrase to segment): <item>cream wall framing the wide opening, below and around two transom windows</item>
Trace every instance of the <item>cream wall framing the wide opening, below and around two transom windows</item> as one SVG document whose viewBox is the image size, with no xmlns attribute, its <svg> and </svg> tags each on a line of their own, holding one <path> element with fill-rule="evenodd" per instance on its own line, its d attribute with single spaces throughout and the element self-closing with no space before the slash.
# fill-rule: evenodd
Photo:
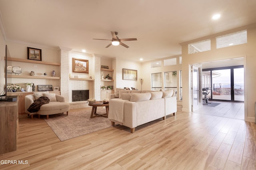
<svg viewBox="0 0 256 170">
<path fill-rule="evenodd" d="M 248 41 L 246 44 L 235 45 L 231 47 L 225 47 L 216 49 L 215 37 L 226 35 L 228 33 L 234 33 L 236 31 L 242 31 L 247 29 Z M 211 50 L 204 51 L 202 53 L 195 53 L 188 55 L 188 44 L 203 39 L 211 39 Z M 196 63 L 204 63 L 211 61 L 220 61 L 227 59 L 234 59 L 244 57 L 242 64 L 244 65 L 244 81 L 245 81 L 245 93 L 244 93 L 244 107 L 245 107 L 245 120 L 254 121 L 254 102 L 256 102 L 256 90 L 254 86 L 256 84 L 256 24 L 240 27 L 216 35 L 203 37 L 193 41 L 182 43 L 182 81 L 183 81 L 183 106 L 182 111 L 191 111 L 190 101 L 190 65 Z M 187 82 L 187 83 L 185 83 Z"/>
</svg>

